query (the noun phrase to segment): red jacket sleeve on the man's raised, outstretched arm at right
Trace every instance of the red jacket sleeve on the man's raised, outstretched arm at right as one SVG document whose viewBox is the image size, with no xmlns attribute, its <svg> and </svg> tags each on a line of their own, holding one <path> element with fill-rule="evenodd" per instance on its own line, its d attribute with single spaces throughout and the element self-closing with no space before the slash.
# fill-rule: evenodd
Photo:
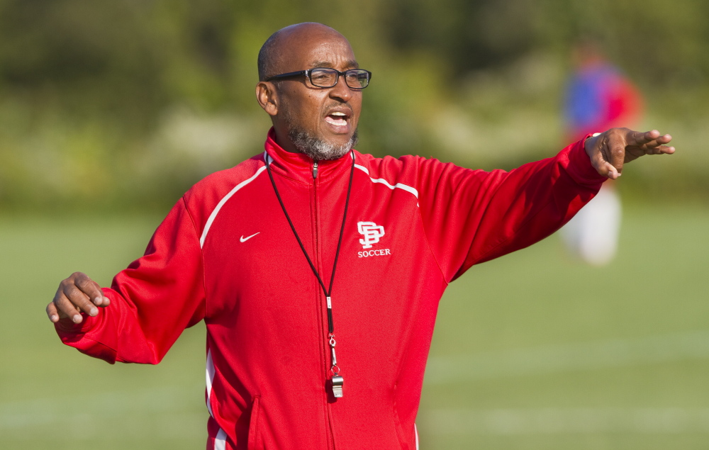
<svg viewBox="0 0 709 450">
<path fill-rule="evenodd" d="M 420 214 L 446 281 L 551 235 L 604 180 L 591 166 L 584 140 L 509 172 L 425 160 L 418 174 Z"/>
</svg>

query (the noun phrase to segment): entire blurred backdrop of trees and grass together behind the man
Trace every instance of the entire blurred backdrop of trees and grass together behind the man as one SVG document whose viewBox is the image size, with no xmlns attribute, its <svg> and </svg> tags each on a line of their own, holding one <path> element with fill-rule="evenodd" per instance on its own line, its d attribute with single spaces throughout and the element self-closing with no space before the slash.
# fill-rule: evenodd
<svg viewBox="0 0 709 450">
<path fill-rule="evenodd" d="M 618 254 L 552 236 L 443 298 L 422 449 L 703 449 L 709 439 L 707 0 L 0 0 L 0 447 L 199 448 L 203 327 L 156 367 L 62 347 L 43 308 L 104 286 L 191 184 L 262 151 L 256 59 L 319 21 L 361 66 L 358 150 L 511 169 L 574 135 L 564 104 L 592 41 L 674 135 L 615 189 Z M 598 130 L 602 131 L 602 130 Z"/>
</svg>

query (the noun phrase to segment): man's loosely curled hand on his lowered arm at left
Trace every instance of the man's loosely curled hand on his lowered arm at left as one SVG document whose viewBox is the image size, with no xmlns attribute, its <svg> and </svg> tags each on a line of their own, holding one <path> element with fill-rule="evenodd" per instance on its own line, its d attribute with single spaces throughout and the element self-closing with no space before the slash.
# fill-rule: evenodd
<svg viewBox="0 0 709 450">
<path fill-rule="evenodd" d="M 82 311 L 88 315 L 96 315 L 99 309 L 105 308 L 108 300 L 96 281 L 86 274 L 74 272 L 69 278 L 59 283 L 59 288 L 52 303 L 47 305 L 47 315 L 52 322 L 69 318 L 74 323 L 82 322 Z"/>
</svg>

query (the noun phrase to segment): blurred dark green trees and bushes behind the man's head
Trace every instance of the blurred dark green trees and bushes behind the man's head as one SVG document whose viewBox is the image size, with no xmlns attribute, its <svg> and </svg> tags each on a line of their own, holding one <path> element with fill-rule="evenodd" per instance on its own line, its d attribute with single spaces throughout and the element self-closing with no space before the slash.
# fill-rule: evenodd
<svg viewBox="0 0 709 450">
<path fill-rule="evenodd" d="M 340 30 L 374 72 L 360 150 L 486 168 L 563 144 L 569 48 L 592 36 L 645 91 L 647 126 L 680 138 L 664 181 L 708 191 L 691 152 L 707 16 L 709 0 L 0 0 L 0 204 L 164 205 L 255 154 L 259 47 L 300 21 Z"/>
</svg>

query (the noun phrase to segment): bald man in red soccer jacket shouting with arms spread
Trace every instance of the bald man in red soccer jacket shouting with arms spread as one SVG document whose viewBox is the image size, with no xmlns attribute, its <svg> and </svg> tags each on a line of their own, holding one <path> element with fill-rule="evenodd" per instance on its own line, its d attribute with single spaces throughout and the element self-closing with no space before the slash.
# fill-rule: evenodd
<svg viewBox="0 0 709 450">
<path fill-rule="evenodd" d="M 376 159 L 352 150 L 369 77 L 332 28 L 274 33 L 266 151 L 190 189 L 111 288 L 76 273 L 48 305 L 111 363 L 157 364 L 204 320 L 208 449 L 414 449 L 447 284 L 557 230 L 624 161 L 674 152 L 610 130 L 509 173 Z"/>
</svg>

